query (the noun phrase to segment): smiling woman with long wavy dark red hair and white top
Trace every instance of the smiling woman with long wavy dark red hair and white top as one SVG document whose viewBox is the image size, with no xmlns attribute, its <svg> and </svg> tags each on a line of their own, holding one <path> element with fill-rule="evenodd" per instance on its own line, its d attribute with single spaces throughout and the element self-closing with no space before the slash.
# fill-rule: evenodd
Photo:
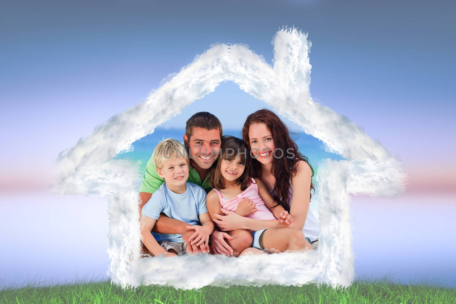
<svg viewBox="0 0 456 304">
<path fill-rule="evenodd" d="M 243 127 L 243 140 L 250 155 L 254 158 L 251 172 L 261 179 L 275 201 L 293 216 L 290 228 L 301 230 L 314 249 L 318 246 L 318 222 L 309 209 L 314 171 L 306 156 L 298 152 L 298 147 L 290 138 L 288 128 L 280 118 L 268 109 L 258 110 L 247 117 Z M 226 211 L 226 216 L 217 215 L 218 226 L 223 231 L 238 228 L 254 231 L 277 227 L 279 221 L 257 220 L 239 216 Z M 270 233 L 265 230 L 260 236 Z M 226 251 L 225 244 L 212 244 L 217 251 Z M 219 247 L 225 248 L 219 248 Z M 214 248 L 215 249 L 215 248 Z M 220 250 L 219 250 L 220 249 Z M 256 248 L 249 248 L 243 253 L 260 253 Z"/>
</svg>

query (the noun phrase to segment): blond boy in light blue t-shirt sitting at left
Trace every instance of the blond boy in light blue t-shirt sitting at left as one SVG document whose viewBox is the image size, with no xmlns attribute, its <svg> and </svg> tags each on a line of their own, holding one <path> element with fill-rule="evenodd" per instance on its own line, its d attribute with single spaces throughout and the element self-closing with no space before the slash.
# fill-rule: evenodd
<svg viewBox="0 0 456 304">
<path fill-rule="evenodd" d="M 181 234 L 150 232 L 160 213 L 164 213 L 187 222 L 187 229 L 195 230 L 192 245 L 209 253 L 208 241 L 214 224 L 207 211 L 206 191 L 187 182 L 190 164 L 187 150 L 175 139 L 164 139 L 157 144 L 154 154 L 156 171 L 165 183 L 142 208 L 140 227 L 144 246 L 155 256 L 171 257 L 189 252 Z"/>
</svg>

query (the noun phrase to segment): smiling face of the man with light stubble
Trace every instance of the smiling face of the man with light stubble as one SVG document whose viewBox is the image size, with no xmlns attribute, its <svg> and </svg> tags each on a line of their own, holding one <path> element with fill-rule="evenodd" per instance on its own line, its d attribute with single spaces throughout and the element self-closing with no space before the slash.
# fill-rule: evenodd
<svg viewBox="0 0 456 304">
<path fill-rule="evenodd" d="M 201 169 L 209 169 L 218 158 L 221 141 L 218 129 L 195 127 L 190 138 L 184 134 L 185 146 L 189 148 L 190 165 L 193 168 L 199 166 Z"/>
</svg>

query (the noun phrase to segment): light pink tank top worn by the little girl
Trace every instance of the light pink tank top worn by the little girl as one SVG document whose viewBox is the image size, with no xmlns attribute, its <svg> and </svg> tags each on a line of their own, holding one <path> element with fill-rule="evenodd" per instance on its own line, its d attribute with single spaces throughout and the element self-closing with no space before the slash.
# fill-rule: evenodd
<svg viewBox="0 0 456 304">
<path fill-rule="evenodd" d="M 255 181 L 253 178 L 251 178 L 251 180 Z M 277 220 L 274 214 L 272 214 L 272 212 L 269 211 L 268 207 L 264 205 L 264 201 L 259 196 L 258 185 L 256 183 L 251 182 L 250 180 L 249 183 L 250 185 L 247 189 L 245 189 L 232 199 L 224 198 L 222 193 L 220 193 L 220 191 L 214 188 L 214 190 L 218 193 L 218 198 L 220 199 L 220 205 L 222 206 L 222 208 L 234 212 L 238 208 L 239 202 L 245 197 L 253 201 L 257 208 L 257 211 L 255 211 L 254 213 L 250 213 L 247 217 L 254 218 L 257 220 Z"/>
</svg>

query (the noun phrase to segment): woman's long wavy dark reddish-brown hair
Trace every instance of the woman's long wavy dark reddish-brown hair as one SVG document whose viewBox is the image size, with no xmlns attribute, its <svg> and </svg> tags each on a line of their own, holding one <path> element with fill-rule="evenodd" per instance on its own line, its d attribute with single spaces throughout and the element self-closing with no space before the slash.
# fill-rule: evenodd
<svg viewBox="0 0 456 304">
<path fill-rule="evenodd" d="M 306 156 L 302 155 L 298 151 L 298 146 L 296 145 L 294 140 L 290 138 L 290 131 L 285 126 L 285 124 L 274 112 L 266 108 L 263 108 L 250 114 L 245 120 L 244 127 L 242 129 L 242 137 L 244 139 L 244 143 L 247 144 L 249 151 L 249 128 L 251 124 L 256 123 L 266 124 L 269 131 L 271 131 L 272 133 L 272 139 L 274 140 L 275 149 L 282 149 L 283 151 L 283 157 L 273 157 L 271 174 L 275 177 L 275 184 L 272 188 L 272 194 L 275 201 L 277 201 L 281 206 L 283 206 L 286 211 L 290 212 L 290 177 L 294 177 L 296 175 L 297 170 L 295 168 L 295 165 L 298 161 L 304 160 L 307 164 L 309 164 L 309 160 Z M 294 157 L 290 157 L 290 155 L 294 155 Z M 249 162 L 249 164 L 249 171 L 252 172 L 252 177 L 261 177 L 260 162 L 252 160 Z M 314 175 L 314 170 L 310 164 L 309 166 L 311 167 L 312 178 L 312 176 Z M 312 190 L 315 193 L 315 187 L 311 179 L 311 188 L 309 189 L 310 198 L 312 198 Z"/>
</svg>

